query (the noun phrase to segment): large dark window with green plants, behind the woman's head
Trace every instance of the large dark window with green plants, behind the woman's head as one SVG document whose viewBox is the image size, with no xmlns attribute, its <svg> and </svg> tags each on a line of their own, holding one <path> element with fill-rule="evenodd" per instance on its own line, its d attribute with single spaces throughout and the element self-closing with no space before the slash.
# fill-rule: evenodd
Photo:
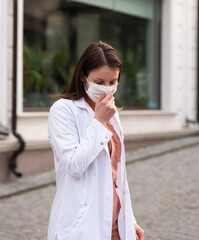
<svg viewBox="0 0 199 240">
<path fill-rule="evenodd" d="M 99 40 L 123 62 L 118 107 L 159 108 L 158 16 L 158 0 L 24 0 L 24 110 L 48 108 L 83 50 Z"/>
</svg>

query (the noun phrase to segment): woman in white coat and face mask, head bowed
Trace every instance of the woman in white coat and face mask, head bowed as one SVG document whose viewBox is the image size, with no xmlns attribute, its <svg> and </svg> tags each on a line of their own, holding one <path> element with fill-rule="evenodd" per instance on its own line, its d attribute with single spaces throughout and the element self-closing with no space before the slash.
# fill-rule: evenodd
<svg viewBox="0 0 199 240">
<path fill-rule="evenodd" d="M 48 240 L 143 240 L 133 215 L 123 134 L 113 94 L 122 64 L 115 49 L 91 44 L 49 113 L 57 192 Z"/>
</svg>

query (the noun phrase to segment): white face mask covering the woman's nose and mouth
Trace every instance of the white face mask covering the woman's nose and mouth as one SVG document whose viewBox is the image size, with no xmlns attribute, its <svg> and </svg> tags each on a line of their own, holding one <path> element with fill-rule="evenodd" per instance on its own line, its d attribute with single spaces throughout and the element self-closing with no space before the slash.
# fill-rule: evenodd
<svg viewBox="0 0 199 240">
<path fill-rule="evenodd" d="M 88 90 L 86 90 L 86 86 L 84 84 L 84 88 L 87 95 L 93 102 L 97 102 L 102 92 L 105 92 L 107 95 L 109 92 L 112 92 L 114 94 L 117 91 L 117 85 L 107 87 L 107 86 L 99 85 L 93 82 L 89 82 L 86 76 L 85 78 L 86 78 L 86 81 L 88 82 L 89 87 L 88 87 Z"/>
</svg>

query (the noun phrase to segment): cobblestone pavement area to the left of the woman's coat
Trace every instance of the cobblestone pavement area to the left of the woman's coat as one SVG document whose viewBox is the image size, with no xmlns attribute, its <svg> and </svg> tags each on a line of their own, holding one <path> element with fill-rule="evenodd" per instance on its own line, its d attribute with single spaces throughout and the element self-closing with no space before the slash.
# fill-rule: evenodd
<svg viewBox="0 0 199 240">
<path fill-rule="evenodd" d="M 45 240 L 55 186 L 0 200 L 0 240 Z"/>
</svg>

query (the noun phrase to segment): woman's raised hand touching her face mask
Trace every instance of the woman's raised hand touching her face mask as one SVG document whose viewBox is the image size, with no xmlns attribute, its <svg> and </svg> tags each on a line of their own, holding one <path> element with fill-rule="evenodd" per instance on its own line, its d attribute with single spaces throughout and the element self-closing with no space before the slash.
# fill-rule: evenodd
<svg viewBox="0 0 199 240">
<path fill-rule="evenodd" d="M 116 112 L 114 100 L 115 98 L 111 92 L 107 95 L 103 92 L 95 104 L 95 119 L 103 125 L 105 125 Z"/>
</svg>

